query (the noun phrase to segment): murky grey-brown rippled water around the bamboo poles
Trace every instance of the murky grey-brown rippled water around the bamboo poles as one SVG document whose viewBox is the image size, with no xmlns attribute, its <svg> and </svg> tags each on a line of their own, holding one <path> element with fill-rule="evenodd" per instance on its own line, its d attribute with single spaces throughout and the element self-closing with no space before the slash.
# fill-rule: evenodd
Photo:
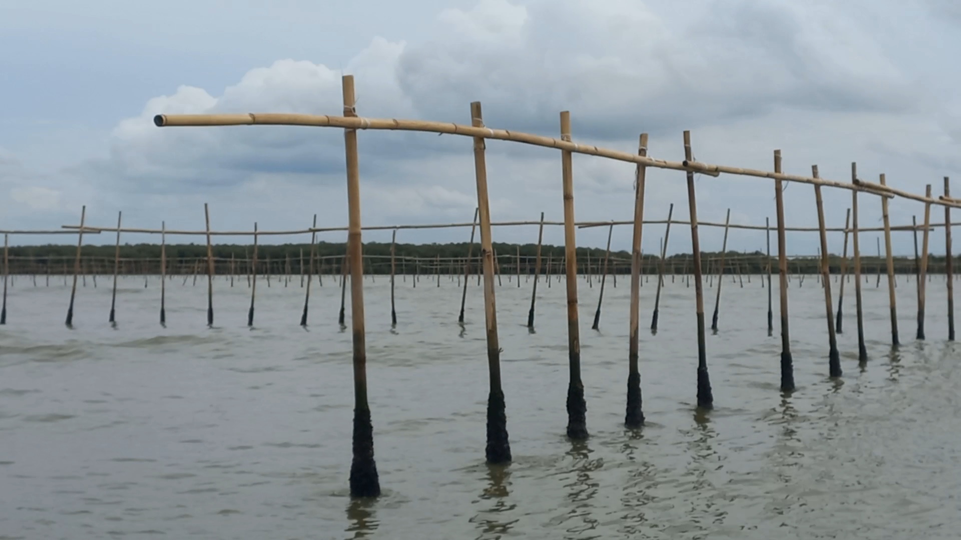
<svg viewBox="0 0 961 540">
<path fill-rule="evenodd" d="M 776 281 L 775 281 L 776 282 Z M 853 283 L 840 336 L 845 376 L 828 380 L 824 296 L 790 289 L 798 390 L 777 389 L 779 338 L 767 335 L 757 277 L 724 284 L 721 331 L 708 336 L 716 410 L 694 411 L 694 288 L 662 297 L 642 332 L 648 426 L 623 429 L 628 279 L 579 281 L 591 438 L 563 436 L 564 288 L 542 282 L 537 331 L 523 326 L 530 282 L 497 288 L 514 462 L 483 463 L 487 393 L 481 289 L 456 324 L 456 283 L 366 282 L 368 376 L 384 495 L 352 503 L 351 339 L 339 288 L 312 291 L 298 326 L 299 279 L 249 289 L 121 280 L 77 297 L 18 278 L 0 328 L 0 538 L 957 538 L 961 534 L 961 348 L 945 340 L 944 278 L 928 285 L 926 342 L 915 342 L 914 283 L 899 281 L 901 336 L 888 345 L 887 291 L 864 288 L 871 361 L 856 361 Z M 241 285 L 242 283 L 242 285 Z M 650 325 L 654 281 L 642 289 Z M 707 317 L 714 289 L 708 289 Z M 835 296 L 837 287 L 835 285 Z M 348 316 L 349 316 L 348 302 Z M 775 312 L 777 295 L 775 294 Z M 775 317 L 775 320 L 777 318 Z M 777 330 L 776 330 L 777 332 Z"/>
</svg>

